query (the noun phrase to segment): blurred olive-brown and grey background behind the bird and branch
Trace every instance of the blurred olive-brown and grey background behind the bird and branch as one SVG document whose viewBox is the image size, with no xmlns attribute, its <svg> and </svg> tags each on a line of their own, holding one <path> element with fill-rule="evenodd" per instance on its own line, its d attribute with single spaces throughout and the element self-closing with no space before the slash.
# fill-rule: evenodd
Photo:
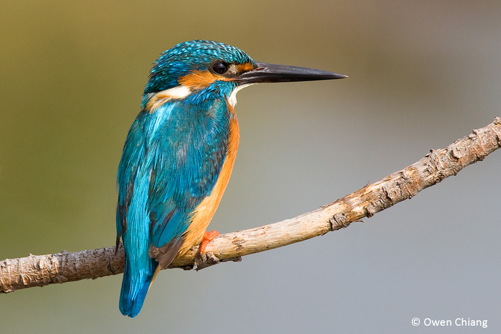
<svg viewBox="0 0 501 334">
<path fill-rule="evenodd" d="M 238 93 L 238 157 L 210 225 L 226 233 L 312 211 L 501 116 L 500 17 L 494 0 L 4 1 L 0 259 L 114 244 L 125 137 L 151 64 L 179 42 L 350 76 Z M 500 166 L 494 152 L 241 263 L 162 271 L 134 319 L 122 275 L 0 295 L 0 331 L 473 332 L 423 325 L 462 317 L 499 332 Z"/>
</svg>

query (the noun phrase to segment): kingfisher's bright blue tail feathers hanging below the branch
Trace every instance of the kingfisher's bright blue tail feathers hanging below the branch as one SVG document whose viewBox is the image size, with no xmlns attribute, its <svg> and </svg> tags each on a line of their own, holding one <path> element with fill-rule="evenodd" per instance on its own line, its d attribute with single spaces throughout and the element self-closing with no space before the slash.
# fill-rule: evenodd
<svg viewBox="0 0 501 334">
<path fill-rule="evenodd" d="M 139 314 L 144 298 L 156 274 L 158 262 L 151 259 L 151 266 L 142 272 L 133 272 L 129 263 L 125 263 L 122 290 L 120 291 L 120 312 L 131 318 Z"/>
</svg>

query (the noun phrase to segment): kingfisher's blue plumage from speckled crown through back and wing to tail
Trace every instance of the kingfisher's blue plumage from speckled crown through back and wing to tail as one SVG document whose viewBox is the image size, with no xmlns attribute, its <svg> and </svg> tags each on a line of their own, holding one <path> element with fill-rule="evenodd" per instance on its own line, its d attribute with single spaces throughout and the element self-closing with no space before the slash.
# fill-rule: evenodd
<svg viewBox="0 0 501 334">
<path fill-rule="evenodd" d="M 117 238 L 125 249 L 120 295 L 124 315 L 139 313 L 158 266 L 148 255 L 150 247 L 180 247 L 177 241 L 182 241 L 190 214 L 214 187 L 229 134 L 226 99 L 237 84 L 215 81 L 154 110 L 147 109 L 148 101 L 157 92 L 178 87 L 178 79 L 190 71 L 207 71 L 214 61 L 255 64 L 222 43 L 176 45 L 154 63 L 142 111 L 129 130 L 117 176 Z"/>
</svg>

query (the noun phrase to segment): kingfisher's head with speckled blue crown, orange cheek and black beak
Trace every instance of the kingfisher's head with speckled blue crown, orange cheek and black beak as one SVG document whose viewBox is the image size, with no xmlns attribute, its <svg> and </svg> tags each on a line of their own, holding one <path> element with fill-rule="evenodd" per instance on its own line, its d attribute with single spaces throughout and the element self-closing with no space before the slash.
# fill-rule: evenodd
<svg viewBox="0 0 501 334">
<path fill-rule="evenodd" d="M 234 105 L 236 92 L 255 83 L 341 78 L 346 76 L 255 62 L 235 47 L 195 40 L 180 43 L 160 55 L 144 90 L 143 108 L 164 99 L 184 99 L 185 103 L 198 104 L 219 98 Z"/>
</svg>

